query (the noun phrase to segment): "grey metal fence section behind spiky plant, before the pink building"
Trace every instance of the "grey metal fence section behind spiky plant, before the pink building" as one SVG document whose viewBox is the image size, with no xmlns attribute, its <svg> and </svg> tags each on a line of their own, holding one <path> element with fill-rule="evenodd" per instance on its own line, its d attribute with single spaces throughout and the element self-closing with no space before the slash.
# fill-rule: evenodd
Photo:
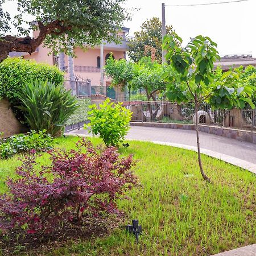
<svg viewBox="0 0 256 256">
<path fill-rule="evenodd" d="M 90 80 L 88 81 L 65 80 L 64 86 L 66 90 L 71 90 L 71 93 L 74 96 L 90 97 L 92 95 Z"/>
</svg>

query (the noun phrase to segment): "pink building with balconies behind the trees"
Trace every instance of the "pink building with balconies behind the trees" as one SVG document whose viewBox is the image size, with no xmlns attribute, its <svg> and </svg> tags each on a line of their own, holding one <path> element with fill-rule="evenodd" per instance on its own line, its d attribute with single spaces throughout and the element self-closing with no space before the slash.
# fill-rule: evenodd
<svg viewBox="0 0 256 256">
<path fill-rule="evenodd" d="M 114 59 L 125 59 L 127 51 L 127 40 L 126 36 L 129 34 L 129 28 L 123 27 L 121 31 L 118 32 L 121 36 L 121 43 L 107 43 L 103 42 L 103 66 L 106 63 L 106 59 L 113 54 Z M 38 36 L 38 31 L 34 31 L 34 37 Z M 65 71 L 66 80 L 79 80 L 86 81 L 90 80 L 92 85 L 92 93 L 97 93 L 101 85 L 101 46 L 95 48 L 89 48 L 84 50 L 81 48 L 75 48 L 74 52 L 77 57 L 72 58 L 63 53 L 54 56 L 53 54 L 48 55 L 49 49 L 43 47 L 43 44 L 38 47 L 38 49 L 29 55 L 28 53 L 22 53 L 24 59 L 34 59 L 39 63 L 48 63 L 50 65 L 57 65 L 63 71 Z M 15 53 L 11 54 L 15 56 Z M 109 88 L 110 79 L 104 75 L 103 79 L 103 90 L 104 94 L 115 93 L 112 88 Z"/>
</svg>

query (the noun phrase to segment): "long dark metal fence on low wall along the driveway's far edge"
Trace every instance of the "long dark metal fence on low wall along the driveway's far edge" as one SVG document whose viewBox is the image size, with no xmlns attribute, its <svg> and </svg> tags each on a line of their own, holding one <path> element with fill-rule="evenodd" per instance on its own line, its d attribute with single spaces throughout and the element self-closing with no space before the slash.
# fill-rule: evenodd
<svg viewBox="0 0 256 256">
<path fill-rule="evenodd" d="M 137 122 L 193 123 L 195 104 L 176 104 L 169 101 L 124 101 L 123 105 Z M 256 110 L 213 109 L 209 104 L 199 105 L 199 123 L 256 130 Z"/>
</svg>

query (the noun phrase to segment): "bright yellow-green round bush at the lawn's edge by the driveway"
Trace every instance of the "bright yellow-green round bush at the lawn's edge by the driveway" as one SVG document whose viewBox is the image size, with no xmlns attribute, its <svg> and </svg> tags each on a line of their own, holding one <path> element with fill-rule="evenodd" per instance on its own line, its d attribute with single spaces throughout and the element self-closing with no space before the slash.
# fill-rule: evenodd
<svg viewBox="0 0 256 256">
<path fill-rule="evenodd" d="M 85 125 L 85 128 L 91 127 L 89 132 L 100 134 L 107 147 L 118 146 L 129 130 L 132 112 L 123 107 L 121 102 L 110 102 L 109 98 L 100 104 L 100 109 L 97 109 L 95 104 L 90 108 L 90 123 Z"/>
</svg>

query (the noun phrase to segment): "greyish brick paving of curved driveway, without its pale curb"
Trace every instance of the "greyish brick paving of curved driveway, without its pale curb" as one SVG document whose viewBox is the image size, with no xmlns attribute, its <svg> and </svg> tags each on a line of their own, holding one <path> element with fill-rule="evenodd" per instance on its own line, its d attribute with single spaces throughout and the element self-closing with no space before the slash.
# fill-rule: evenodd
<svg viewBox="0 0 256 256">
<path fill-rule="evenodd" d="M 86 130 L 74 130 L 71 134 L 88 134 Z M 177 143 L 196 147 L 196 132 L 191 130 L 166 129 L 156 127 L 131 126 L 127 139 L 139 141 L 157 141 Z M 214 134 L 200 133 L 200 146 L 210 150 L 232 156 L 256 164 L 256 144 L 237 141 Z"/>
</svg>

